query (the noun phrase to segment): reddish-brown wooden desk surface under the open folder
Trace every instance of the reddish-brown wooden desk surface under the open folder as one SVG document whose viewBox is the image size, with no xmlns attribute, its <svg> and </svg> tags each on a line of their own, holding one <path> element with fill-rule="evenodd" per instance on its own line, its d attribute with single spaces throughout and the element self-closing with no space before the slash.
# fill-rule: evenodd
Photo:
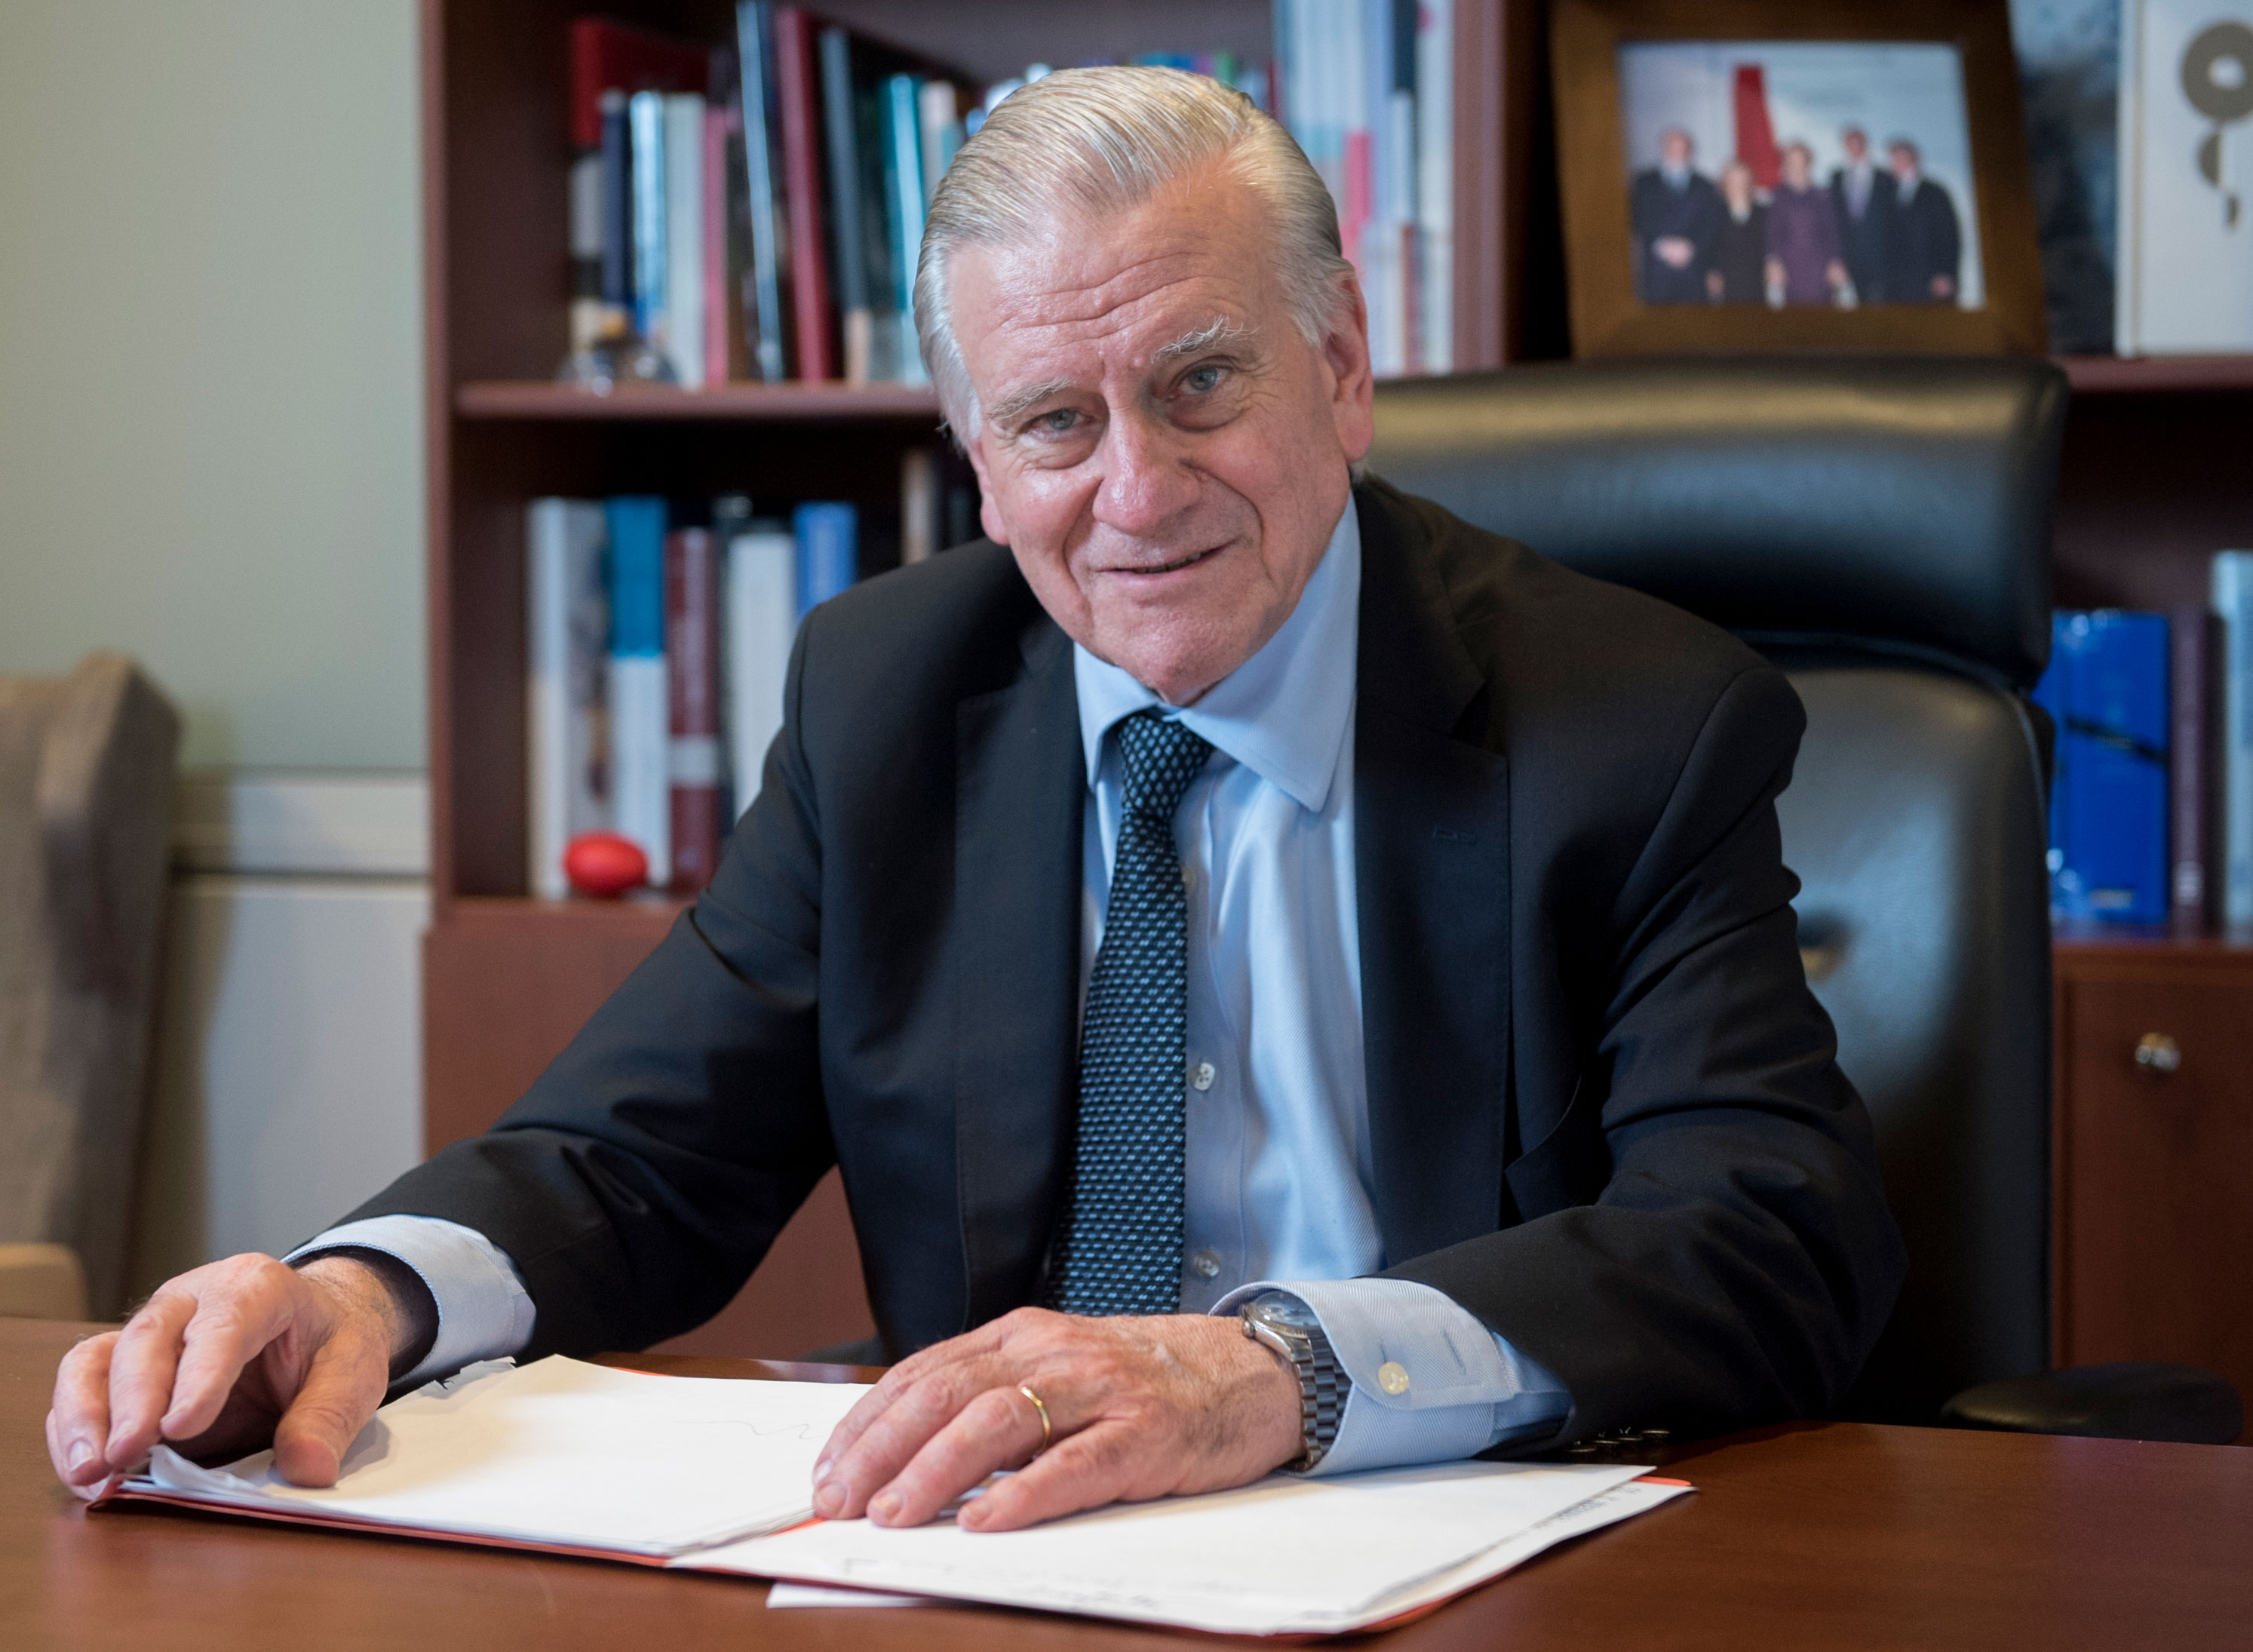
<svg viewBox="0 0 2253 1652">
<path fill-rule="evenodd" d="M 762 1584 L 728 1578 L 198 1515 L 88 1517 L 41 1431 L 54 1361 L 86 1330 L 0 1321 L 9 1647 L 1217 1643 L 969 1607 L 766 1611 Z M 2253 1449 L 1834 1422 L 1683 1447 L 1672 1465 L 1697 1496 L 1541 1555 L 1383 1645 L 2183 1650 L 2244 1647 L 2253 1625 Z"/>
</svg>

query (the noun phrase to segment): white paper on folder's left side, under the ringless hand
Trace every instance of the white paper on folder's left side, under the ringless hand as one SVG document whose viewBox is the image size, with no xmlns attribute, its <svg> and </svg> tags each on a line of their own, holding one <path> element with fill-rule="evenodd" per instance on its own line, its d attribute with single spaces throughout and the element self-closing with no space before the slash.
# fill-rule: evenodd
<svg viewBox="0 0 2253 1652">
<path fill-rule="evenodd" d="M 550 1357 L 469 1370 L 376 1413 L 329 1490 L 273 1451 L 201 1469 L 158 1447 L 142 1487 L 239 1508 L 680 1555 L 813 1512 L 813 1458 L 861 1384 L 653 1377 Z"/>
</svg>

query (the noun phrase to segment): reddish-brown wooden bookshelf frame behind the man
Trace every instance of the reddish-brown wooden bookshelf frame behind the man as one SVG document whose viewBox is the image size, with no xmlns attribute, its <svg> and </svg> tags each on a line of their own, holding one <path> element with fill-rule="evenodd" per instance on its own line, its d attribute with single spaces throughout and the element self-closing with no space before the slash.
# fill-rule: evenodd
<svg viewBox="0 0 2253 1652">
<path fill-rule="evenodd" d="M 899 385 L 597 397 L 552 383 L 566 349 L 566 25 L 595 9 L 712 43 L 730 38 L 734 16 L 730 0 L 424 0 L 430 1145 L 496 1118 L 678 913 L 665 899 L 606 906 L 525 895 L 525 500 L 615 491 L 849 498 L 874 525 L 863 554 L 874 570 L 888 554 L 899 458 L 930 444 L 937 426 L 928 390 Z M 1027 61 L 1151 50 L 1273 56 L 1266 0 L 829 0 L 818 9 L 978 79 Z M 1570 345 L 1543 14 L 1539 0 L 1455 5 L 1462 367 L 1557 358 Z M 2253 356 L 2066 358 L 2064 367 L 2075 403 L 2057 599 L 2147 609 L 2203 599 L 2208 554 L 2253 545 L 2253 491 L 2239 482 Z M 2107 969 L 2190 951 L 2172 940 L 2098 949 L 2113 960 Z M 2071 949 L 2059 958 L 2061 978 L 2084 967 Z M 2253 969 L 2244 983 L 2253 1010 Z M 730 1316 L 687 1345 L 793 1357 L 865 1323 L 831 1179 Z"/>
</svg>

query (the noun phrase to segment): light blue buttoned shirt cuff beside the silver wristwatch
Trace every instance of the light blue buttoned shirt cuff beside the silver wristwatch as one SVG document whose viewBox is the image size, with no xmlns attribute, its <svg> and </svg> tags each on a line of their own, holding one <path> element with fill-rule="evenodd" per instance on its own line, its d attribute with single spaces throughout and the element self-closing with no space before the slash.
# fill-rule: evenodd
<svg viewBox="0 0 2253 1652">
<path fill-rule="evenodd" d="M 1573 1411 L 1573 1395 L 1555 1375 L 1431 1285 L 1259 1280 L 1230 1291 L 1212 1312 L 1232 1314 L 1262 1291 L 1289 1291 L 1313 1309 L 1354 1379 L 1338 1438 L 1313 1474 L 1478 1456 L 1550 1433 Z M 1386 1373 L 1388 1366 L 1397 1370 Z M 1381 1373 L 1399 1393 L 1388 1391 Z"/>
</svg>

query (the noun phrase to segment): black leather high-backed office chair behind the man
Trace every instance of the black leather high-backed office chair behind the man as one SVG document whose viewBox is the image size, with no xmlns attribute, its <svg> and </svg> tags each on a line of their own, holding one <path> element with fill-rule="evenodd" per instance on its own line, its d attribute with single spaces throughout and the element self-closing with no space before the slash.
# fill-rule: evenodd
<svg viewBox="0 0 2253 1652">
<path fill-rule="evenodd" d="M 1379 390 L 1370 469 L 1726 624 L 1807 703 L 1778 805 L 1800 947 L 1911 1255 L 1841 1413 L 2219 1442 L 2239 1429 L 2221 1377 L 2037 1375 L 2048 760 L 2025 690 L 2050 651 L 2064 410 L 2064 374 L 2023 361 L 1519 367 Z"/>
</svg>

